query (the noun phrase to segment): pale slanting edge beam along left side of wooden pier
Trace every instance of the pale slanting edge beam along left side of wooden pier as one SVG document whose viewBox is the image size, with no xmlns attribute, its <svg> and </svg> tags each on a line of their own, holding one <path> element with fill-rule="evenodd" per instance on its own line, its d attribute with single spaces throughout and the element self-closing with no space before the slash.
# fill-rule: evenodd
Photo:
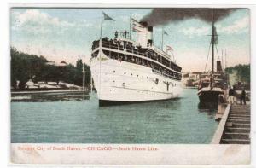
<svg viewBox="0 0 256 168">
<path fill-rule="evenodd" d="M 224 128 L 225 128 L 227 119 L 230 114 L 230 107 L 231 107 L 231 105 L 228 104 L 228 106 L 226 107 L 226 109 L 224 111 L 224 115 L 223 115 L 222 119 L 220 120 L 220 122 L 218 124 L 218 128 L 212 138 L 212 142 L 211 142 L 212 144 L 219 144 L 221 141 L 221 137 L 223 136 Z"/>
</svg>

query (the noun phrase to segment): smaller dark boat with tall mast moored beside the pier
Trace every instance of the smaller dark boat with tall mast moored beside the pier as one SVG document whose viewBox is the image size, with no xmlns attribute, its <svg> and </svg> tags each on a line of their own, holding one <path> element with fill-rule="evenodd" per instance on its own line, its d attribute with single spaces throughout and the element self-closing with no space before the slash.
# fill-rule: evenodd
<svg viewBox="0 0 256 168">
<path fill-rule="evenodd" d="M 227 89 L 227 75 L 221 66 L 221 61 L 217 61 L 217 68 L 214 71 L 214 47 L 218 43 L 218 34 L 212 21 L 212 72 L 201 74 L 197 95 L 201 105 L 218 104 L 220 95 L 224 96 L 224 90 Z"/>
</svg>

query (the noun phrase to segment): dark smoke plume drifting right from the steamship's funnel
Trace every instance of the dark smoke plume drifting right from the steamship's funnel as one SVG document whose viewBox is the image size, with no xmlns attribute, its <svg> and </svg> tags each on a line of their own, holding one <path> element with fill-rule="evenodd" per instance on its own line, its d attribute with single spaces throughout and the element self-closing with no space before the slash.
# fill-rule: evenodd
<svg viewBox="0 0 256 168">
<path fill-rule="evenodd" d="M 207 9 L 207 8 L 164 8 L 153 9 L 141 21 L 148 22 L 148 26 L 166 25 L 170 21 L 181 21 L 192 18 L 206 22 L 222 20 L 236 9 Z M 212 20 L 214 15 L 214 20 Z"/>
</svg>

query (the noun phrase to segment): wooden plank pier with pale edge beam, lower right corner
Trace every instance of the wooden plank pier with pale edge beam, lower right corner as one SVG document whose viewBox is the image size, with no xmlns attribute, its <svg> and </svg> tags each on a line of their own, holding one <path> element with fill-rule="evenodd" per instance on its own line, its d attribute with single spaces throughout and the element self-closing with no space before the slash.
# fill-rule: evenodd
<svg viewBox="0 0 256 168">
<path fill-rule="evenodd" d="M 212 144 L 250 144 L 250 105 L 228 105 L 219 122 Z"/>
</svg>

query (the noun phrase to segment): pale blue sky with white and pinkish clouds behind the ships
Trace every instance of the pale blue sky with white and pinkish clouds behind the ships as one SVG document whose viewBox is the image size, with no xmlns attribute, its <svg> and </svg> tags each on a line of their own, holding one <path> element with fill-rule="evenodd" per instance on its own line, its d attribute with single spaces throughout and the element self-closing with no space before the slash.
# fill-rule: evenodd
<svg viewBox="0 0 256 168">
<path fill-rule="evenodd" d="M 10 44 L 28 54 L 44 55 L 49 61 L 74 64 L 82 59 L 90 64 L 91 43 L 100 38 L 102 11 L 115 20 L 103 21 L 102 37 L 113 38 L 116 30 L 129 31 L 130 17 L 141 20 L 152 9 L 14 8 L 10 11 Z M 227 67 L 250 63 L 249 9 L 238 9 L 215 26 L 218 32 L 216 59 L 225 60 L 222 53 L 226 50 Z M 164 36 L 164 50 L 166 45 L 172 46 L 172 54 L 183 72 L 209 70 L 211 28 L 211 24 L 195 18 L 170 21 L 165 26 L 154 27 L 154 45 L 160 48 L 164 29 L 168 33 Z M 132 39 L 136 38 L 132 32 Z"/>
</svg>

